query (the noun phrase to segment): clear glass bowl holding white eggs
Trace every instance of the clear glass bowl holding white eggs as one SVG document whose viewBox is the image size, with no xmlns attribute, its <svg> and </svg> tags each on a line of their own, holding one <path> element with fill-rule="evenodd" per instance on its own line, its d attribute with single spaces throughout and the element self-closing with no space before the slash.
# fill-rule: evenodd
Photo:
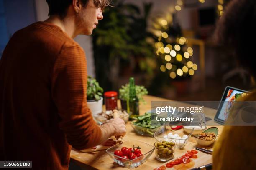
<svg viewBox="0 0 256 170">
<path fill-rule="evenodd" d="M 193 131 L 194 128 L 190 130 L 190 133 L 185 134 L 180 130 L 172 131 L 171 126 L 164 125 L 161 126 L 159 130 L 156 130 L 156 132 L 154 133 L 154 138 L 159 142 L 163 140 L 174 141 L 177 148 L 184 148 L 184 146 L 187 144 L 187 141 L 191 137 Z"/>
</svg>

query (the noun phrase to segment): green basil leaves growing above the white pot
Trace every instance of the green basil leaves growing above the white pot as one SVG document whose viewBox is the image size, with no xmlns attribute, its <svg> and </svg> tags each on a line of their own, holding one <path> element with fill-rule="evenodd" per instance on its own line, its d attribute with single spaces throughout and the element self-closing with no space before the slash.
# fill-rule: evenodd
<svg viewBox="0 0 256 170">
<path fill-rule="evenodd" d="M 87 100 L 100 100 L 103 95 L 103 89 L 95 78 L 87 77 Z"/>
</svg>

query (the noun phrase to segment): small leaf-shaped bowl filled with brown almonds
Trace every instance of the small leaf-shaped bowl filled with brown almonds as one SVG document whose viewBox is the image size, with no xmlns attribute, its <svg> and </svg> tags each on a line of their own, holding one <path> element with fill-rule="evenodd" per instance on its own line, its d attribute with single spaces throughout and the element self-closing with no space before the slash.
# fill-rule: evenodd
<svg viewBox="0 0 256 170">
<path fill-rule="evenodd" d="M 199 135 L 195 135 L 195 140 L 199 145 L 209 146 L 215 142 L 218 136 L 219 130 L 217 127 L 211 127 L 200 133 Z"/>
</svg>

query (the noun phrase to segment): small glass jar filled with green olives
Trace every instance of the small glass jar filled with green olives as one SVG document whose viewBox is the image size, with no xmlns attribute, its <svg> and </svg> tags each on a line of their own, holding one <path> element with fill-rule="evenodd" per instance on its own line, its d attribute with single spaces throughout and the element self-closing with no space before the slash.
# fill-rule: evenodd
<svg viewBox="0 0 256 170">
<path fill-rule="evenodd" d="M 175 142 L 172 140 L 163 140 L 155 142 L 156 159 L 160 161 L 168 161 L 174 158 Z"/>
</svg>

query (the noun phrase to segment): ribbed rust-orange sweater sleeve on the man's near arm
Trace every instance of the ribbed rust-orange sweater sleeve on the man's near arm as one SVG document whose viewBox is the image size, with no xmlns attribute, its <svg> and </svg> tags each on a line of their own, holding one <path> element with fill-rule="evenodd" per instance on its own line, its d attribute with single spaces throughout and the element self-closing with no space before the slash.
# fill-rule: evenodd
<svg viewBox="0 0 256 170">
<path fill-rule="evenodd" d="M 52 97 L 61 118 L 60 128 L 73 148 L 90 148 L 100 141 L 100 127 L 87 107 L 87 65 L 77 44 L 63 45 L 52 74 Z"/>
</svg>

